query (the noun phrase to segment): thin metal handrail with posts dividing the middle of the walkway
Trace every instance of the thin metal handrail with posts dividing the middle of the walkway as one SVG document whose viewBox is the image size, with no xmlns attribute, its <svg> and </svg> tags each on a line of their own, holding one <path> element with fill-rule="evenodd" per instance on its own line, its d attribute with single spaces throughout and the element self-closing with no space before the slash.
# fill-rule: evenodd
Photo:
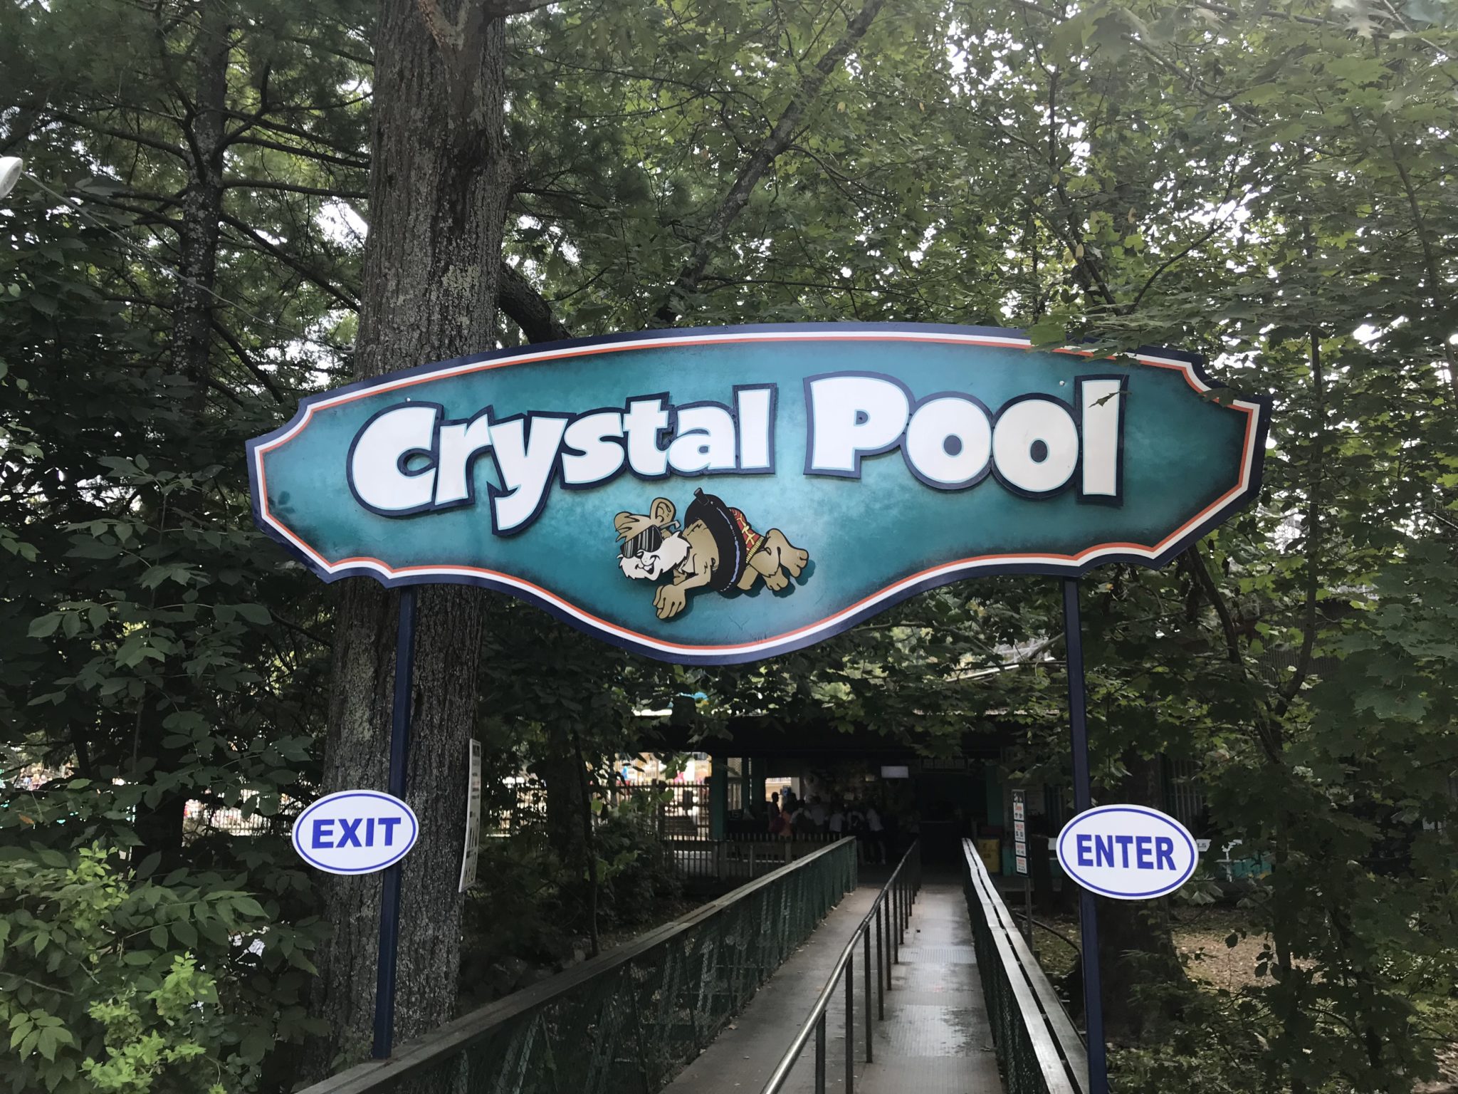
<svg viewBox="0 0 1458 1094">
<path fill-rule="evenodd" d="M 865 971 L 865 1015 L 866 1015 L 866 1063 L 875 1062 L 870 1024 L 870 922 L 876 923 L 876 1012 L 881 1021 L 886 1018 L 886 992 L 891 990 L 891 966 L 901 961 L 901 945 L 905 941 L 905 931 L 911 922 L 911 906 L 916 894 L 921 888 L 921 845 L 913 842 L 907 853 L 901 856 L 897 868 L 891 871 L 891 878 L 876 899 L 870 901 L 870 910 L 850 934 L 850 941 L 840 951 L 835 967 L 831 969 L 825 988 L 821 989 L 809 1017 L 795 1034 L 790 1047 L 774 1066 L 768 1082 L 761 1094 L 780 1094 L 784 1081 L 789 1079 L 800 1053 L 811 1034 L 815 1034 L 815 1094 L 825 1094 L 825 1011 L 830 1009 L 831 999 L 841 977 L 846 980 L 846 1094 L 853 1094 L 856 1088 L 856 944 L 865 950 L 862 969 Z M 884 932 L 882 932 L 884 923 Z"/>
</svg>

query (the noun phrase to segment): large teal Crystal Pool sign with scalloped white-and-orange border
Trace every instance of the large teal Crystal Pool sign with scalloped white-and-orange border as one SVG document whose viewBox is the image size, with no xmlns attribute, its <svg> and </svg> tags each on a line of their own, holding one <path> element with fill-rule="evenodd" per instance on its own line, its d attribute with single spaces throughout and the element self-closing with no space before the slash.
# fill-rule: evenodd
<svg viewBox="0 0 1458 1094">
<path fill-rule="evenodd" d="M 1260 489 L 1270 401 L 990 327 L 668 330 L 426 365 L 248 443 L 324 581 L 467 582 L 684 664 L 977 573 L 1161 566 Z"/>
</svg>

